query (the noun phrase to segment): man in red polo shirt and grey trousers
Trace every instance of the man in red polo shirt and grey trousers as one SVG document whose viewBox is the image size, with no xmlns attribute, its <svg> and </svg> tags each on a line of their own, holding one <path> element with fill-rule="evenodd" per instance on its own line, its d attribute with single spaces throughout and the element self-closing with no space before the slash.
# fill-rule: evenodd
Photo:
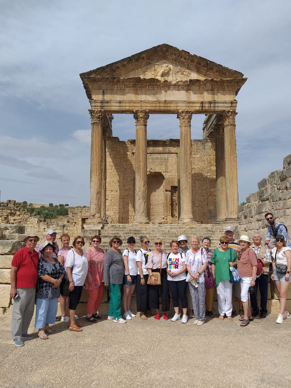
<svg viewBox="0 0 291 388">
<path fill-rule="evenodd" d="M 33 338 L 33 334 L 27 334 L 27 331 L 35 309 L 35 286 L 38 277 L 38 253 L 35 247 L 38 240 L 36 234 L 28 234 L 24 239 L 26 246 L 14 253 L 11 262 L 11 338 L 16 346 L 24 345 L 22 338 Z"/>
</svg>

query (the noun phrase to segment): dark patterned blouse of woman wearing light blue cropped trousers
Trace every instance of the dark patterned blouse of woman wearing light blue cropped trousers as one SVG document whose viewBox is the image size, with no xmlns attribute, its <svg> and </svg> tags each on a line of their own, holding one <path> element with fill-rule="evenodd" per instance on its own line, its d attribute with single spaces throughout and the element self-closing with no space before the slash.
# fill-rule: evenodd
<svg viewBox="0 0 291 388">
<path fill-rule="evenodd" d="M 57 259 L 54 258 L 54 263 L 50 263 L 41 257 L 38 261 L 39 289 L 35 295 L 36 299 L 59 298 L 60 286 L 52 288 L 54 284 L 43 280 L 41 276 L 49 275 L 53 279 L 59 279 L 59 277 L 64 274 L 65 269 Z"/>
</svg>

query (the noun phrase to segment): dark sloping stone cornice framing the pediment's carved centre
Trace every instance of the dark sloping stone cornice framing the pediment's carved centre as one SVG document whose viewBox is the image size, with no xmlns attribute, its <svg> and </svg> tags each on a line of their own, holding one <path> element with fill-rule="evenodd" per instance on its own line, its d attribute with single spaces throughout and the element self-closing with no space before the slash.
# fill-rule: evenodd
<svg viewBox="0 0 291 388">
<path fill-rule="evenodd" d="M 244 74 L 239 71 L 229 69 L 225 66 L 209 61 L 206 58 L 190 54 L 188 51 L 179 50 L 163 43 L 151 49 L 131 55 L 130 57 L 113 62 L 106 66 L 81 73 L 80 77 L 83 80 L 84 76 L 122 76 L 130 73 L 135 69 L 142 68 L 148 64 L 160 60 L 168 60 L 185 68 L 196 71 L 197 73 L 206 76 L 206 78 L 242 78 Z"/>
</svg>

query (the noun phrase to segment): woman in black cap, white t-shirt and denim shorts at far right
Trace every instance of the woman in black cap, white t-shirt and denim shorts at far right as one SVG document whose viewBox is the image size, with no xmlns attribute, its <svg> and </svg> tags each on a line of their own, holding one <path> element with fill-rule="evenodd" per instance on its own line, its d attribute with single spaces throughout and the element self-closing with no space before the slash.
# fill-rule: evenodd
<svg viewBox="0 0 291 388">
<path fill-rule="evenodd" d="M 286 246 L 285 237 L 276 237 L 275 248 L 272 249 L 272 275 L 280 297 L 280 312 L 276 323 L 283 323 L 283 314 L 286 309 L 286 294 L 290 284 L 291 248 Z M 286 270 L 286 272 L 285 272 Z M 281 274 L 280 272 L 285 272 Z"/>
</svg>

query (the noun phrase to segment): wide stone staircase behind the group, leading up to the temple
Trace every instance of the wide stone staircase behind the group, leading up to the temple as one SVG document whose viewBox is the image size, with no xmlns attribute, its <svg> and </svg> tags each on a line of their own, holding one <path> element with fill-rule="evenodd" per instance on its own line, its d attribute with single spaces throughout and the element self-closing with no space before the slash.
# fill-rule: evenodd
<svg viewBox="0 0 291 388">
<path fill-rule="evenodd" d="M 220 236 L 224 234 L 225 226 L 229 223 L 220 223 L 220 224 L 194 224 L 189 226 L 178 225 L 178 224 L 159 224 L 159 223 L 150 223 L 146 225 L 133 225 L 133 224 L 109 224 L 104 225 L 101 229 L 97 229 L 100 225 L 96 225 L 97 228 L 94 229 L 94 225 L 84 224 L 82 230 L 82 236 L 85 240 L 85 245 L 88 246 L 90 242 L 90 237 L 94 234 L 99 234 L 102 237 L 101 248 L 108 248 L 108 241 L 113 236 L 119 236 L 123 241 L 122 248 L 126 247 L 126 241 L 128 237 L 133 236 L 137 242 L 137 247 L 140 246 L 139 237 L 147 236 L 151 241 L 149 248 L 154 248 L 154 239 L 160 237 L 163 241 L 163 247 L 165 249 L 170 248 L 170 241 L 177 239 L 178 236 L 184 234 L 187 237 L 187 240 L 190 241 L 191 236 L 196 234 L 200 239 L 208 236 L 211 239 L 211 246 L 217 246 Z M 189 245 L 189 244 L 188 244 Z"/>
</svg>

